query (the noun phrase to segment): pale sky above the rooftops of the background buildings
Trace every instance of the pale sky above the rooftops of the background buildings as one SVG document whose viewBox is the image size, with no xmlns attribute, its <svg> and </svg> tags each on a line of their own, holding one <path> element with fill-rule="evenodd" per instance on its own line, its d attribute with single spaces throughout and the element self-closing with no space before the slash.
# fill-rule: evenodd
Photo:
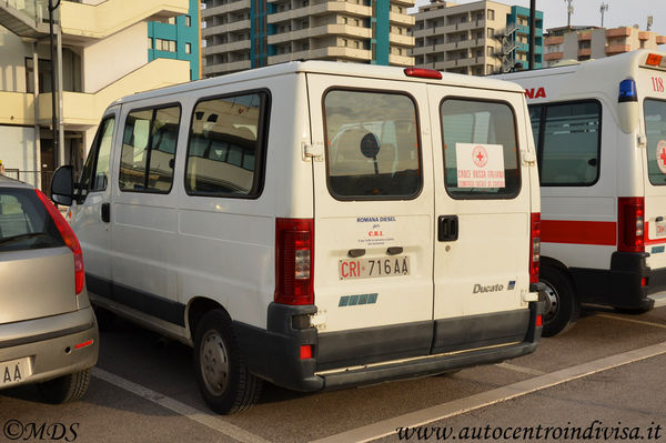
<svg viewBox="0 0 666 443">
<path fill-rule="evenodd" d="M 455 3 L 472 3 L 477 0 L 452 0 Z M 529 8 L 529 0 L 495 0 L 504 4 L 517 4 Z M 603 0 L 608 4 L 604 13 L 604 28 L 632 27 L 638 24 L 640 30 L 647 26 L 647 16 L 653 16 L 652 31 L 666 36 L 666 0 Z M 416 6 L 427 4 L 427 0 L 416 0 Z M 536 9 L 544 12 L 544 28 L 566 26 L 566 0 L 536 0 Z M 599 8 L 602 0 L 573 0 L 574 13 L 572 26 L 602 24 Z"/>
</svg>

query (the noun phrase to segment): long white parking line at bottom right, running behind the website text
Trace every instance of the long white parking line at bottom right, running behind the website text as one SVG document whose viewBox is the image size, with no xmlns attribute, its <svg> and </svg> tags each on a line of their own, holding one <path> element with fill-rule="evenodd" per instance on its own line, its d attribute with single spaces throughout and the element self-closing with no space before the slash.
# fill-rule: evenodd
<svg viewBox="0 0 666 443">
<path fill-rule="evenodd" d="M 454 400 L 448 403 L 442 403 L 424 410 L 410 412 L 377 423 L 357 427 L 340 434 L 316 440 L 313 443 L 346 443 L 346 442 L 369 442 L 382 439 L 396 433 L 398 427 L 422 426 L 427 423 L 436 422 L 450 416 L 460 415 L 465 412 L 474 411 L 481 407 L 490 406 L 506 400 L 516 399 L 531 394 L 547 387 L 556 386 L 573 380 L 583 379 L 597 372 L 607 371 L 628 363 L 666 354 L 666 342 L 652 346 L 646 346 L 622 354 L 610 355 L 605 359 L 595 360 L 589 363 L 578 364 L 561 371 L 555 371 L 545 375 L 528 379 L 507 386 L 494 389 L 487 392 L 481 392 L 464 399 Z"/>
</svg>

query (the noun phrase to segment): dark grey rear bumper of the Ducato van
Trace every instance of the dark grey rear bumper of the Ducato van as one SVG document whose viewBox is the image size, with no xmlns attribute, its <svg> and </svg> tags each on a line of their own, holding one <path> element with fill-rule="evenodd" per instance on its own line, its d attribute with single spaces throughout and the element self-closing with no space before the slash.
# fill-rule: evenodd
<svg viewBox="0 0 666 443">
<path fill-rule="evenodd" d="M 529 311 L 522 322 L 525 329 L 517 340 L 495 344 L 488 342 L 491 344 L 472 350 L 456 346 L 448 351 L 440 348 L 435 349 L 433 354 L 431 349 L 417 349 L 412 355 L 355 366 L 349 364 L 339 369 L 325 369 L 326 364 L 322 365 L 317 362 L 320 341 L 314 328 L 297 329 L 299 325 L 305 325 L 303 320 L 315 311 L 315 306 L 286 306 L 272 303 L 269 306 L 268 330 L 234 322 L 243 358 L 250 371 L 282 387 L 313 392 L 432 375 L 477 364 L 495 363 L 528 354 L 536 349 L 542 334 L 542 326 L 536 326 L 536 315 L 542 313 L 543 303 L 529 303 Z M 497 314 L 496 320 L 505 321 L 503 314 Z M 487 315 L 486 319 L 488 324 L 493 322 L 493 315 Z M 387 335 L 386 340 L 395 340 L 395 332 L 394 330 L 392 335 Z M 302 345 L 313 346 L 313 358 L 301 359 Z"/>
</svg>

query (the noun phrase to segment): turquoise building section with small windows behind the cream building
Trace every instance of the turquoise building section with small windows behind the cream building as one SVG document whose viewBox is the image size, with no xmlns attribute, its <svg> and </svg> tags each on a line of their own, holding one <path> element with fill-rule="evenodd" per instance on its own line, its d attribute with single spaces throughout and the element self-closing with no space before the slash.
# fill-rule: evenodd
<svg viewBox="0 0 666 443">
<path fill-rule="evenodd" d="M 148 22 L 148 61 L 176 59 L 190 62 L 190 80 L 199 80 L 201 0 L 188 0 L 186 14 L 171 17 L 168 21 Z"/>
</svg>

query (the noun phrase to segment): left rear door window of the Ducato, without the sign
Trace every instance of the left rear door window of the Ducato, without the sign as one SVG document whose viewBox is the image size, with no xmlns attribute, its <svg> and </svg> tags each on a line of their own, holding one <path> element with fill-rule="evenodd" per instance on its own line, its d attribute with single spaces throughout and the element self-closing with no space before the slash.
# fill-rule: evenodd
<svg viewBox="0 0 666 443">
<path fill-rule="evenodd" d="M 416 107 L 394 92 L 324 97 L 327 180 L 340 200 L 411 199 L 421 191 Z"/>
</svg>

